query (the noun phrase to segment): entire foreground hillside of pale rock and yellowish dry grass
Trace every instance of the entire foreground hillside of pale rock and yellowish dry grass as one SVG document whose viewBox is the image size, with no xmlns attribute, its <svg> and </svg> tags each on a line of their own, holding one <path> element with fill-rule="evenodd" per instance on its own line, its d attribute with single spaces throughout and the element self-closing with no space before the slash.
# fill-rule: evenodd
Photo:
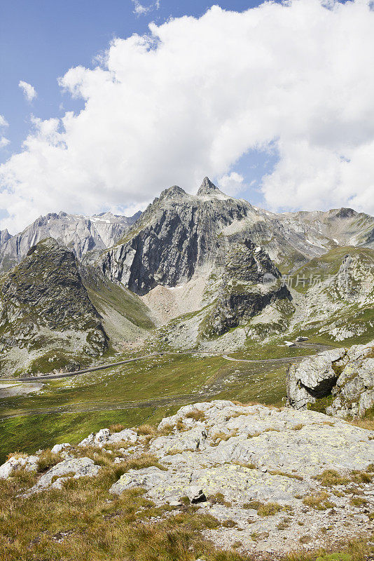
<svg viewBox="0 0 374 561">
<path fill-rule="evenodd" d="M 0 555 L 368 560 L 373 436 L 317 412 L 216 400 L 157 428 L 14 454 L 0 466 Z"/>
</svg>

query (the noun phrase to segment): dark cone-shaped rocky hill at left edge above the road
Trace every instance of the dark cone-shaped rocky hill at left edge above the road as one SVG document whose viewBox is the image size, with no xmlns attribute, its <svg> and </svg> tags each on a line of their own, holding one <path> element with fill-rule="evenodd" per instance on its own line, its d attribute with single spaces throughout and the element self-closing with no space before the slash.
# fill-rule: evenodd
<svg viewBox="0 0 374 561">
<path fill-rule="evenodd" d="M 73 357 L 98 356 L 108 346 L 76 258 L 52 238 L 31 248 L 5 276 L 0 298 L 3 374 L 8 366 L 43 369 L 43 360 L 48 360 L 46 370 L 52 370 Z"/>
</svg>

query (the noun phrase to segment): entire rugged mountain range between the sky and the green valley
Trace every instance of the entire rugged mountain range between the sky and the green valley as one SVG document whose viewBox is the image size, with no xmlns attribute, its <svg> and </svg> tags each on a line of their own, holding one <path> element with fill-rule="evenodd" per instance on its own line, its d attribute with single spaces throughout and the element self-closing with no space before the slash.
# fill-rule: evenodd
<svg viewBox="0 0 374 561">
<path fill-rule="evenodd" d="M 373 217 L 276 214 L 208 177 L 196 195 L 170 187 L 133 217 L 60 212 L 1 231 L 0 266 L 3 376 L 144 344 L 214 353 L 373 338 Z"/>
</svg>

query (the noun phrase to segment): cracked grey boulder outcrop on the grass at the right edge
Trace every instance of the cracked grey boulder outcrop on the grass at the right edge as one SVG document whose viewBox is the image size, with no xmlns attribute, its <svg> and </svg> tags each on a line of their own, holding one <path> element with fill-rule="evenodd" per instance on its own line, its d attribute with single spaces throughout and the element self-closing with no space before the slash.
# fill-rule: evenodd
<svg viewBox="0 0 374 561">
<path fill-rule="evenodd" d="M 374 405 L 374 341 L 350 349 L 325 351 L 291 365 L 287 373 L 290 405 L 305 409 L 331 396 L 329 414 L 363 415 Z"/>
</svg>

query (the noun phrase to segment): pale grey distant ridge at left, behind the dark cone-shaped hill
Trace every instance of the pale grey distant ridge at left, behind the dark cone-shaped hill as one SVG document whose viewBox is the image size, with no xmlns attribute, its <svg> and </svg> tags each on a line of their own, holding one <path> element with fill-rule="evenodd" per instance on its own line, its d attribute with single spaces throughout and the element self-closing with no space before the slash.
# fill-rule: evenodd
<svg viewBox="0 0 374 561">
<path fill-rule="evenodd" d="M 16 236 L 7 230 L 0 234 L 0 269 L 8 271 L 25 257 L 33 245 L 44 238 L 55 238 L 67 245 L 78 259 L 92 250 L 104 250 L 116 243 L 141 213 L 127 218 L 111 212 L 85 217 L 67 212 L 41 216 Z"/>
</svg>

